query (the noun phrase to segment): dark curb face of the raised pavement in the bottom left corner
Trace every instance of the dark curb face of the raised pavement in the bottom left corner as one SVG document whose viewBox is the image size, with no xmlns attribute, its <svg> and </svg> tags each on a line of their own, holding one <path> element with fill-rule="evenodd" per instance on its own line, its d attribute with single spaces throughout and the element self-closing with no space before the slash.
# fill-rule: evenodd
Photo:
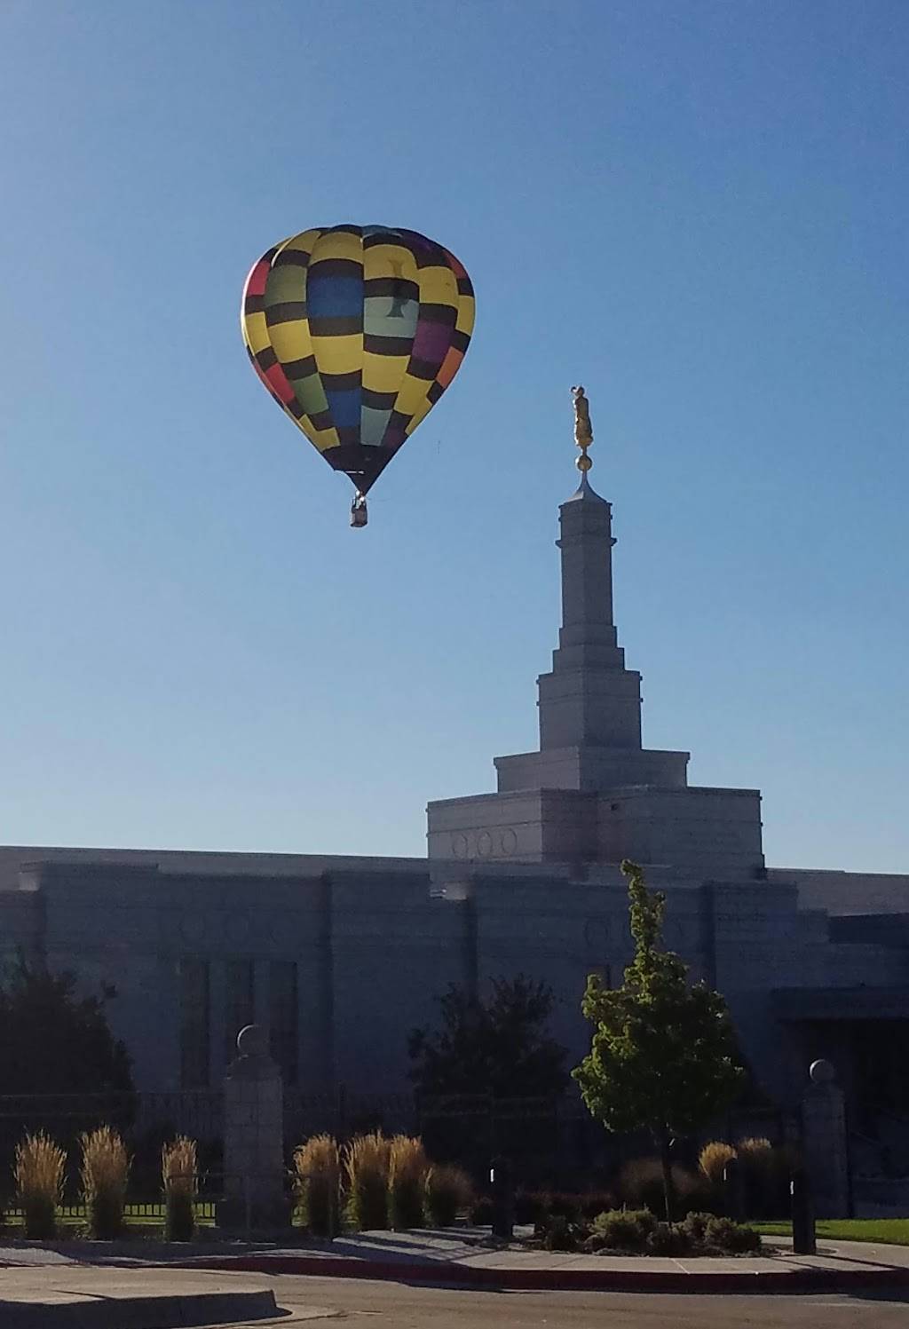
<svg viewBox="0 0 909 1329">
<path fill-rule="evenodd" d="M 0 1324 L 11 1329 L 189 1329 L 249 1320 L 274 1320 L 280 1312 L 271 1290 L 198 1292 L 179 1296 L 98 1297 L 74 1301 L 0 1300 Z"/>
</svg>

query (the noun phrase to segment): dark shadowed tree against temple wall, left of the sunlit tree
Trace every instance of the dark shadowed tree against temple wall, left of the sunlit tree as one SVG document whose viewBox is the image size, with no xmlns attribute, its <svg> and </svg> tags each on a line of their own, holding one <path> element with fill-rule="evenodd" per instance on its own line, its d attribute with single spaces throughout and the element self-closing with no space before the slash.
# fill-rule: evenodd
<svg viewBox="0 0 909 1329">
<path fill-rule="evenodd" d="M 556 1098 L 567 1084 L 567 1053 L 546 1033 L 556 998 L 524 974 L 498 978 L 488 1001 L 452 985 L 439 998 L 441 1027 L 409 1037 L 411 1078 L 427 1095 Z"/>
</svg>

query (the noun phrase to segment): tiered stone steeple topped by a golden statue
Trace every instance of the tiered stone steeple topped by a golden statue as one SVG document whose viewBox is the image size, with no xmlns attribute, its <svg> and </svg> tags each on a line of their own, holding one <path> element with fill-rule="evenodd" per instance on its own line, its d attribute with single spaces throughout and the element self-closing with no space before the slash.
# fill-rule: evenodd
<svg viewBox="0 0 909 1329">
<path fill-rule="evenodd" d="M 431 859 L 672 865 L 710 880 L 763 870 L 756 789 L 688 788 L 687 752 L 641 744 L 641 674 L 613 622 L 613 510 L 590 486 L 583 388 L 573 388 L 581 484 L 559 508 L 562 626 L 537 679 L 540 750 L 496 758 L 498 788 L 428 807 Z"/>
</svg>

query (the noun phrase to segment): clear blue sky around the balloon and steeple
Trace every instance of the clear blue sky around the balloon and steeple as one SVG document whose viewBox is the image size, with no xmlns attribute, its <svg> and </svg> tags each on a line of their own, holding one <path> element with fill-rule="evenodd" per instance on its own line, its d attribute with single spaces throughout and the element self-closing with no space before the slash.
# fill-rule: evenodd
<svg viewBox="0 0 909 1329">
<path fill-rule="evenodd" d="M 5 0 L 0 840 L 424 852 L 536 746 L 581 380 L 645 742 L 909 870 L 906 68 L 905 0 Z M 478 311 L 363 533 L 238 331 L 344 221 Z"/>
</svg>

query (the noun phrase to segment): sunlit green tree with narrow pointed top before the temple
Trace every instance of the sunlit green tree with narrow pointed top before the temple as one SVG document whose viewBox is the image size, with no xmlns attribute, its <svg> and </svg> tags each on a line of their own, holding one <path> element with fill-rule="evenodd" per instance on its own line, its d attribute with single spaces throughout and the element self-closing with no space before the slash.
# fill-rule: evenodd
<svg viewBox="0 0 909 1329">
<path fill-rule="evenodd" d="M 742 1086 L 724 999 L 688 981 L 687 965 L 662 946 L 666 897 L 650 892 L 641 868 L 629 881 L 634 960 L 621 987 L 587 978 L 582 1010 L 594 1025 L 590 1053 L 571 1073 L 593 1116 L 609 1131 L 647 1128 L 663 1164 L 666 1216 L 674 1213 L 670 1148 L 726 1107 Z"/>
</svg>

